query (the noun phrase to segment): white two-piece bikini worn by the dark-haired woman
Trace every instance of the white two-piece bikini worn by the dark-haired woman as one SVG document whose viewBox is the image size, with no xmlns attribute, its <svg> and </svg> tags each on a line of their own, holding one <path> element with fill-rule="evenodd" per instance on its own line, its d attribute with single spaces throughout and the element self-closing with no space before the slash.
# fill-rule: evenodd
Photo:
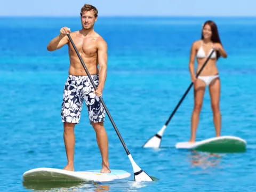
<svg viewBox="0 0 256 192">
<path fill-rule="evenodd" d="M 199 48 L 199 50 L 197 51 L 196 53 L 196 57 L 199 58 L 199 59 L 203 59 L 203 58 L 206 58 L 206 54 L 203 50 L 203 42 L 201 41 L 201 46 Z M 211 53 L 212 49 L 210 50 L 209 54 Z M 209 54 L 207 55 L 207 57 L 209 56 Z M 216 55 L 216 51 L 214 51 L 210 57 L 210 59 L 216 59 L 217 58 L 217 55 Z M 197 78 L 198 79 L 201 79 L 206 86 L 210 85 L 210 83 L 215 79 L 215 78 L 218 78 L 219 75 L 207 75 L 207 76 L 198 76 Z"/>
</svg>

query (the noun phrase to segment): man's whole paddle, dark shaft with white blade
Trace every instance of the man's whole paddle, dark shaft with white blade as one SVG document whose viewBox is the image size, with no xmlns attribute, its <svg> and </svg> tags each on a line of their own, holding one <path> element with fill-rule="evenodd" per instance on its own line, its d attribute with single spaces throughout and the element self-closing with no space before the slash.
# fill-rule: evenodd
<svg viewBox="0 0 256 192">
<path fill-rule="evenodd" d="M 68 36 L 68 38 L 69 38 L 69 40 L 70 40 L 72 46 L 74 47 L 74 50 L 76 51 L 76 54 L 77 54 L 79 60 L 81 61 L 82 66 L 84 67 L 84 70 L 85 70 L 87 76 L 89 77 L 89 79 L 90 79 L 90 81 L 91 81 L 91 83 L 92 83 L 92 86 L 94 87 L 95 90 L 97 90 L 97 87 L 96 87 L 96 85 L 94 84 L 93 79 L 92 79 L 92 77 L 91 77 L 91 75 L 90 75 L 88 69 L 86 68 L 86 66 L 85 66 L 85 64 L 84 64 L 84 61 L 83 61 L 81 55 L 79 54 L 78 50 L 76 49 L 76 46 L 75 46 L 75 44 L 74 44 L 74 42 L 73 42 L 71 36 L 70 36 L 69 34 L 67 34 L 67 36 Z M 132 164 L 132 169 L 133 169 L 133 172 L 134 172 L 134 180 L 135 180 L 135 181 L 153 181 L 153 179 L 151 179 L 151 177 L 150 177 L 145 171 L 143 171 L 143 170 L 134 162 L 134 160 L 133 160 L 133 158 L 132 158 L 132 155 L 130 154 L 129 150 L 127 149 L 127 147 L 126 147 L 126 145 L 125 145 L 125 143 L 124 143 L 124 140 L 123 140 L 121 134 L 119 133 L 119 131 L 118 131 L 118 129 L 117 129 L 117 126 L 116 126 L 116 124 L 115 124 L 113 118 L 111 117 L 111 115 L 110 115 L 108 109 L 107 109 L 107 106 L 106 106 L 105 102 L 103 101 L 102 97 L 99 97 L 99 99 L 100 99 L 100 102 L 102 103 L 103 107 L 105 108 L 105 111 L 106 111 L 106 113 L 107 113 L 107 115 L 108 115 L 108 117 L 109 117 L 109 119 L 110 119 L 110 122 L 112 123 L 112 125 L 113 125 L 113 127 L 114 127 L 114 129 L 115 129 L 115 131 L 116 131 L 116 133 L 117 133 L 117 136 L 118 136 L 118 138 L 120 139 L 120 141 L 121 141 L 121 143 L 122 143 L 122 145 L 123 145 L 123 147 L 124 147 L 124 149 L 125 149 L 125 151 L 126 151 L 127 156 L 128 156 L 129 159 L 130 159 L 130 162 L 131 162 L 131 164 Z"/>
</svg>

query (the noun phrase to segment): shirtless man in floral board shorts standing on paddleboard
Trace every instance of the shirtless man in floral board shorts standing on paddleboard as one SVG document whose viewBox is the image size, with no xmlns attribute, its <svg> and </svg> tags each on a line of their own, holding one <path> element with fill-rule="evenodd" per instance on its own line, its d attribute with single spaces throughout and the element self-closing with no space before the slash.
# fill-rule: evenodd
<svg viewBox="0 0 256 192">
<path fill-rule="evenodd" d="M 69 47 L 69 76 L 65 84 L 61 117 L 64 126 L 64 142 L 68 163 L 64 170 L 74 171 L 75 124 L 79 123 L 82 104 L 85 100 L 90 123 L 96 133 L 97 143 L 102 157 L 101 173 L 110 173 L 108 163 L 108 138 L 103 126 L 105 109 L 99 100 L 107 76 L 107 43 L 93 30 L 94 22 L 98 18 L 98 10 L 89 4 L 81 9 L 82 29 L 71 33 L 68 27 L 62 27 L 60 34 L 47 45 L 48 51 L 60 49 L 63 45 Z M 77 57 L 69 41 L 70 34 L 78 52 L 89 70 L 94 83 L 98 86 L 94 90 L 89 77 Z"/>
</svg>

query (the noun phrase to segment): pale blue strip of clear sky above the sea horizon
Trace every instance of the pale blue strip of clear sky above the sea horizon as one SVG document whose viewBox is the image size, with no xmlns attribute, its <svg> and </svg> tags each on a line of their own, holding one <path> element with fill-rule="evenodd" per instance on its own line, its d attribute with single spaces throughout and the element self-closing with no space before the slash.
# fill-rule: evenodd
<svg viewBox="0 0 256 192">
<path fill-rule="evenodd" d="M 0 0 L 0 16 L 76 16 L 85 3 L 99 16 L 256 17 L 256 0 Z"/>
</svg>

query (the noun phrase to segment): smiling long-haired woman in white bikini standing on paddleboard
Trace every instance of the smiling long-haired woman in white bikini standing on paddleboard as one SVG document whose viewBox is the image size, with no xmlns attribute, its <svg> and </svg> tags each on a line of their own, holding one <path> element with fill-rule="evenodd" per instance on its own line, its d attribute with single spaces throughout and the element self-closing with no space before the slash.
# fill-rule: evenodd
<svg viewBox="0 0 256 192">
<path fill-rule="evenodd" d="M 198 73 L 198 71 L 201 69 L 212 49 L 214 52 L 211 55 L 211 58 L 206 63 L 200 75 L 196 78 L 196 73 Z M 194 83 L 194 109 L 191 116 L 191 137 L 189 142 L 195 142 L 196 140 L 196 129 L 206 86 L 209 86 L 211 96 L 211 106 L 216 137 L 220 136 L 220 78 L 216 66 L 216 62 L 220 56 L 227 58 L 227 53 L 221 45 L 217 26 L 213 21 L 206 21 L 203 25 L 201 39 L 193 43 L 190 52 L 189 71 L 191 81 Z M 195 59 L 198 63 L 196 73 L 194 70 Z"/>
</svg>

